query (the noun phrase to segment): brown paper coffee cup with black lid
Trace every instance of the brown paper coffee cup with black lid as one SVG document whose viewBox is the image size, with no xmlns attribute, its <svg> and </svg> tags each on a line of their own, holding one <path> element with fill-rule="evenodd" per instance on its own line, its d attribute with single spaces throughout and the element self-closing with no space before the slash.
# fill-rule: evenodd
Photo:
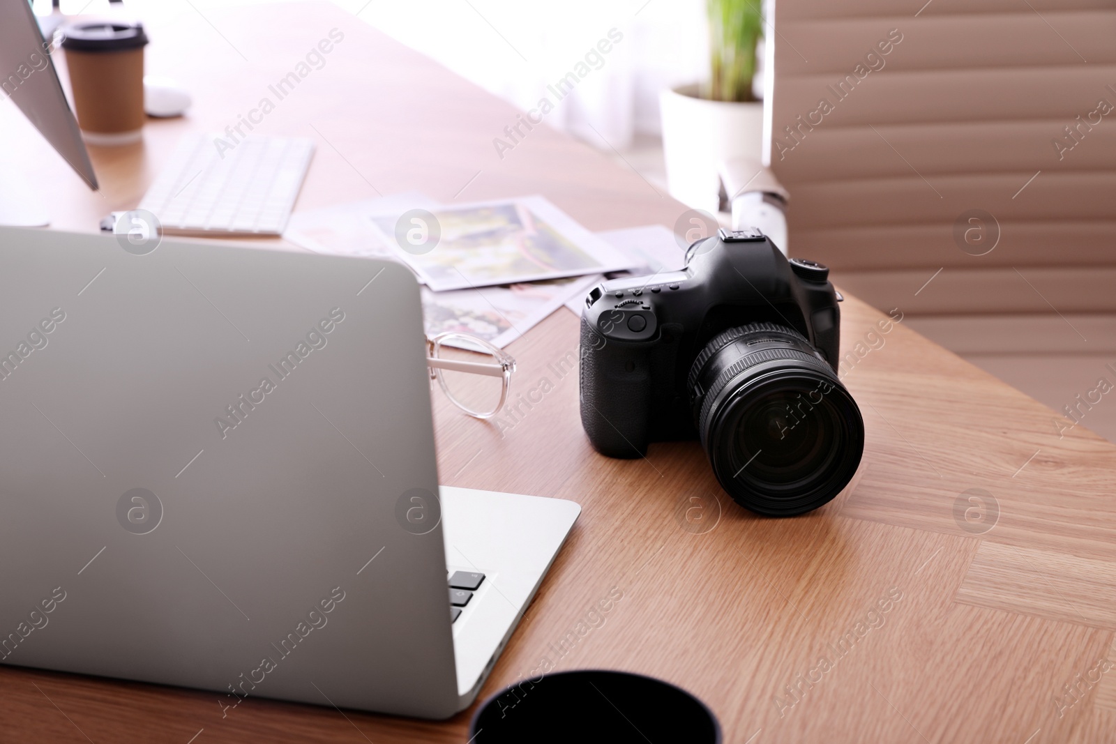
<svg viewBox="0 0 1116 744">
<path fill-rule="evenodd" d="M 126 145 L 142 138 L 146 45 L 141 23 L 86 21 L 66 27 L 62 49 L 74 107 L 89 144 Z"/>
</svg>

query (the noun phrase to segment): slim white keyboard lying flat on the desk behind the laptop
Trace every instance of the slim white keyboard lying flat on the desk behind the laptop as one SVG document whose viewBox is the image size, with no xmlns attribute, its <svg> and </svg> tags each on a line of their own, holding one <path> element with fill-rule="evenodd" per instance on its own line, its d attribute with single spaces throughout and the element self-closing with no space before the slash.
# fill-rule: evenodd
<svg viewBox="0 0 1116 744">
<path fill-rule="evenodd" d="M 183 137 L 140 209 L 153 213 L 167 233 L 280 234 L 310 166 L 314 141 L 248 137 L 218 152 L 218 136 Z"/>
</svg>

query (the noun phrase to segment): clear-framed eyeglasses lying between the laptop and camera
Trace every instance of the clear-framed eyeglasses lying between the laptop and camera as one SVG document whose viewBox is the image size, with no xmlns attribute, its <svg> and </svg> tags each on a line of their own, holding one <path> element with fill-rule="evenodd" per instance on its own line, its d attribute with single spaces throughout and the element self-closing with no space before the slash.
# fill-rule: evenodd
<svg viewBox="0 0 1116 744">
<path fill-rule="evenodd" d="M 426 366 L 450 400 L 474 418 L 500 413 L 516 360 L 482 338 L 448 331 L 426 337 Z"/>
</svg>

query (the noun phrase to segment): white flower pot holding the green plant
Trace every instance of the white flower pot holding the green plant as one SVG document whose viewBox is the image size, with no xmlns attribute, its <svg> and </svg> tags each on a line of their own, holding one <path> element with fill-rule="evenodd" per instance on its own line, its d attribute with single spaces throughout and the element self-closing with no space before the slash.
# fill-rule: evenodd
<svg viewBox="0 0 1116 744">
<path fill-rule="evenodd" d="M 698 97 L 696 85 L 664 90 L 658 100 L 671 196 L 715 213 L 718 164 L 730 157 L 761 157 L 763 102 L 706 100 Z"/>
</svg>

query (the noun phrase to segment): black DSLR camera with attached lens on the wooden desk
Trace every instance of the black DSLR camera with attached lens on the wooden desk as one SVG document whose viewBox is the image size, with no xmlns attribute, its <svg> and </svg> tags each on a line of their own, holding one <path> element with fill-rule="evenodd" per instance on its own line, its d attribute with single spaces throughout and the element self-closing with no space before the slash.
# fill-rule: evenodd
<svg viewBox="0 0 1116 744">
<path fill-rule="evenodd" d="M 641 457 L 700 439 L 741 506 L 791 516 L 829 502 L 860 463 L 864 421 L 837 377 L 828 277 L 751 228 L 696 241 L 682 271 L 598 284 L 581 312 L 589 442 Z"/>
</svg>

